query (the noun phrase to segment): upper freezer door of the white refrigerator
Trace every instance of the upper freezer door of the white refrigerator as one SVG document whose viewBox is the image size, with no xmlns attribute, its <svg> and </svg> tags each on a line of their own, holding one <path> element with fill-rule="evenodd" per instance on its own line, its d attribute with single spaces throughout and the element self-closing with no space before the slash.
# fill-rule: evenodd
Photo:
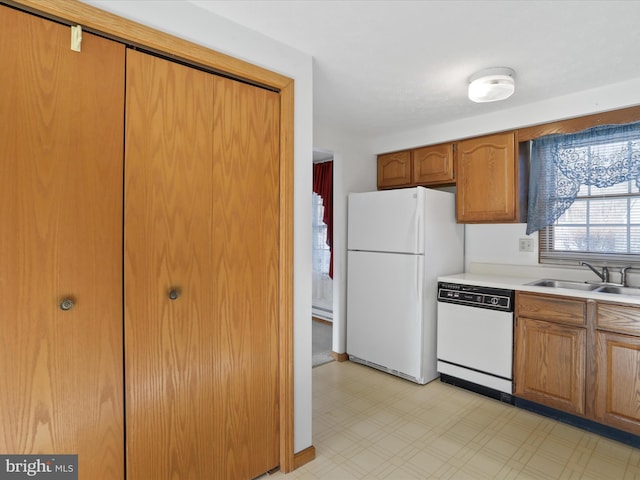
<svg viewBox="0 0 640 480">
<path fill-rule="evenodd" d="M 350 194 L 348 250 L 424 253 L 424 190 Z"/>
</svg>

